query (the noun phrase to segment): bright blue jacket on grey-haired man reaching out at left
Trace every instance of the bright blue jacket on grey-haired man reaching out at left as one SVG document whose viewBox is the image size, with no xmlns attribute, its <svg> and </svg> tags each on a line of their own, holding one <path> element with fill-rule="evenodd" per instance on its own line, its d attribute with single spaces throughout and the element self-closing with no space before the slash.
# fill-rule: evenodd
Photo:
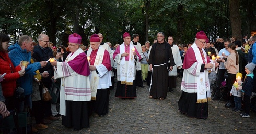
<svg viewBox="0 0 256 134">
<path fill-rule="evenodd" d="M 18 43 L 11 45 L 8 51 L 10 60 L 13 62 L 14 66 L 18 66 L 20 61 L 29 62 L 25 69 L 25 75 L 17 79 L 17 84 L 24 89 L 24 95 L 30 95 L 33 89 L 35 71 L 41 68 L 41 64 L 39 62 L 31 64 L 31 52 L 27 52 L 26 49 L 22 50 Z"/>
</svg>

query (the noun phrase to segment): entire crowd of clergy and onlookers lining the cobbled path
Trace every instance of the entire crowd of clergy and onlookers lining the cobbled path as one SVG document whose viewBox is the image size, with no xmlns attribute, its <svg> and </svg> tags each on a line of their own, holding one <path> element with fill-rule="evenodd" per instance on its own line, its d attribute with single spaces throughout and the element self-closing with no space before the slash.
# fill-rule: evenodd
<svg viewBox="0 0 256 134">
<path fill-rule="evenodd" d="M 93 34 L 87 47 L 74 33 L 65 47 L 54 45 L 43 33 L 37 43 L 22 35 L 9 45 L 9 36 L 0 33 L 0 114 L 5 118 L 9 110 L 32 109 L 33 132 L 48 128 L 60 116 L 62 125 L 78 131 L 89 127 L 92 113 L 108 114 L 109 91 L 115 84 L 115 97 L 122 100 L 136 98 L 136 86 L 145 88 L 144 84 L 149 86 L 149 98 L 164 100 L 177 87 L 177 77 L 182 78 L 179 110 L 189 117 L 207 119 L 208 101 L 221 96 L 226 107 L 243 110 L 241 117 L 250 117 L 251 106 L 256 107 L 256 36 L 245 43 L 235 37 L 210 42 L 200 31 L 193 43 L 177 44 L 173 36 L 166 40 L 158 32 L 155 41 L 145 45 L 139 43 L 138 34 L 125 32 L 122 37 L 121 45 L 112 46 L 103 42 L 101 33 Z M 238 74 L 244 79 L 237 79 Z M 51 90 L 56 81 L 60 81 L 59 110 L 44 100 L 44 89 Z"/>
</svg>

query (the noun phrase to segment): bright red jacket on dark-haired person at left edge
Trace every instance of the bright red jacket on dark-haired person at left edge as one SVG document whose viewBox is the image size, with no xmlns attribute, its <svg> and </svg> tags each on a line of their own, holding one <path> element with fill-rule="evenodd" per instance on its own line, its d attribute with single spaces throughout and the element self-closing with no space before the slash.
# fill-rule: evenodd
<svg viewBox="0 0 256 134">
<path fill-rule="evenodd" d="M 16 79 L 19 78 L 18 71 L 20 70 L 21 68 L 19 65 L 14 68 L 8 53 L 0 51 L 0 74 L 6 73 L 4 76 L 5 79 L 1 82 L 4 97 L 10 97 L 14 95 L 14 91 L 16 89 Z"/>
</svg>

